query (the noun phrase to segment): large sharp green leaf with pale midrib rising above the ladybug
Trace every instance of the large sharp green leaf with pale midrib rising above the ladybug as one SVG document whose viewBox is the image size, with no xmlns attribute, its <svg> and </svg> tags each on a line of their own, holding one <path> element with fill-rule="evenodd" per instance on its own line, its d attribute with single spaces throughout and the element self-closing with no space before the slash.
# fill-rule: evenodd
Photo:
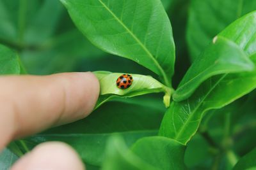
<svg viewBox="0 0 256 170">
<path fill-rule="evenodd" d="M 93 44 L 106 52 L 138 62 L 159 74 L 164 83 L 171 86 L 175 45 L 172 26 L 161 1 L 61 2 Z"/>
</svg>

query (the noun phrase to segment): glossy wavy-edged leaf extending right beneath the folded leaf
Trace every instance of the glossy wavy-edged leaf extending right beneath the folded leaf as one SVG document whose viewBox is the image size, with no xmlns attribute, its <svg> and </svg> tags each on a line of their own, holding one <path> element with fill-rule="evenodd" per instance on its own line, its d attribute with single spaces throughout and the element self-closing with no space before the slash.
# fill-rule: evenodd
<svg viewBox="0 0 256 170">
<path fill-rule="evenodd" d="M 256 55 L 251 57 L 256 64 Z M 256 69 L 249 73 L 221 74 L 205 81 L 193 96 L 173 102 L 161 124 L 160 134 L 188 143 L 208 110 L 222 108 L 256 88 Z"/>
</svg>

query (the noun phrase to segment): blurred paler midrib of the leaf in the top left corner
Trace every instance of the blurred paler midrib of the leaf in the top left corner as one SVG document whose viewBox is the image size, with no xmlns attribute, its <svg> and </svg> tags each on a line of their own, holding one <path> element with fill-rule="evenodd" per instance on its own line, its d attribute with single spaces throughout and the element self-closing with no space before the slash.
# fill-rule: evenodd
<svg viewBox="0 0 256 170">
<path fill-rule="evenodd" d="M 19 44 L 23 44 L 24 31 L 26 26 L 26 11 L 28 7 L 28 0 L 19 0 L 19 15 L 18 15 L 18 39 Z"/>
</svg>

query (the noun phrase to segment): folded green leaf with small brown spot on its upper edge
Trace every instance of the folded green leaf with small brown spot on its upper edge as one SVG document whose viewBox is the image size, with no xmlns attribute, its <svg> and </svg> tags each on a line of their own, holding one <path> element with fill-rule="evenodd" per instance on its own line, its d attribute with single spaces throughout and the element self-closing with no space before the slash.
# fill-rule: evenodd
<svg viewBox="0 0 256 170">
<path fill-rule="evenodd" d="M 187 99 L 203 81 L 211 76 L 252 71 L 253 68 L 253 62 L 236 43 L 218 36 L 193 62 L 173 94 L 173 99 L 175 101 Z"/>
</svg>

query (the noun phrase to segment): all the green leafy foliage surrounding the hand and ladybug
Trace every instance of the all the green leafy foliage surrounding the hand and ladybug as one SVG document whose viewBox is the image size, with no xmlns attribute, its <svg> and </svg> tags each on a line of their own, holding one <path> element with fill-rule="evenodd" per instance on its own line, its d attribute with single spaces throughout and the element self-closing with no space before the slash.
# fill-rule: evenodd
<svg viewBox="0 0 256 170">
<path fill-rule="evenodd" d="M 13 141 L 0 165 L 63 141 L 87 169 L 255 169 L 255 3 L 1 1 L 1 74 L 90 70 L 100 96 L 90 117 Z"/>
</svg>

